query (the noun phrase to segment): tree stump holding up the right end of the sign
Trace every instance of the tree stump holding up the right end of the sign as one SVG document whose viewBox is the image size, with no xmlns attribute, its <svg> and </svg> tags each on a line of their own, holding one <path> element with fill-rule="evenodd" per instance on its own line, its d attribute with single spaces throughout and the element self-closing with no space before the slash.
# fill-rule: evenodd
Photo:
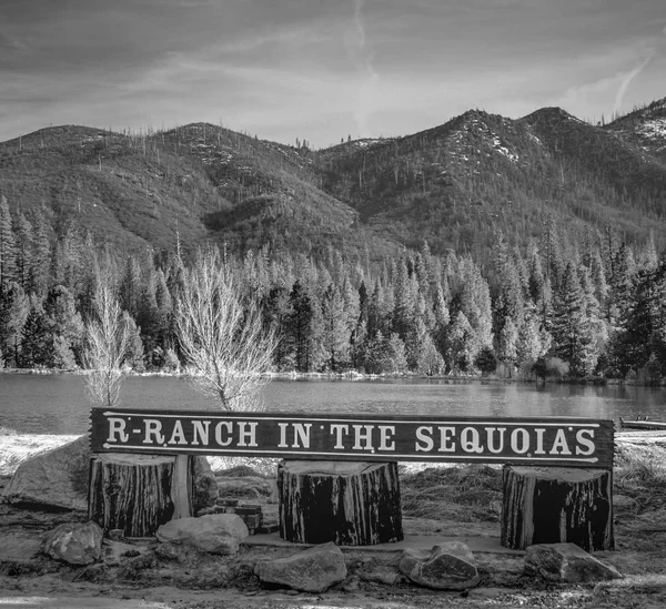
<svg viewBox="0 0 666 609">
<path fill-rule="evenodd" d="M 503 546 L 576 544 L 612 550 L 613 473 L 606 469 L 517 467 L 503 470 Z"/>
</svg>

